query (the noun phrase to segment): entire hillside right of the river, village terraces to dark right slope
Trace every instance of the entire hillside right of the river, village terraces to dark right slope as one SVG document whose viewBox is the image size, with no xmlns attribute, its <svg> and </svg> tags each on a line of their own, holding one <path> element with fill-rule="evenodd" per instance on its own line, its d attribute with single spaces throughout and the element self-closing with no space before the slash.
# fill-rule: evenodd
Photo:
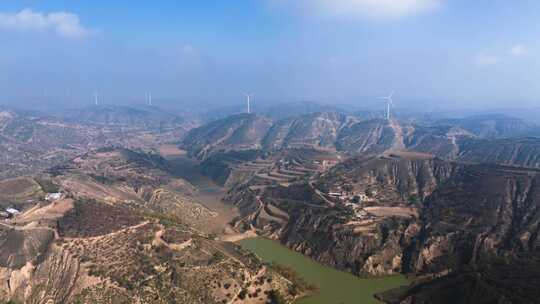
<svg viewBox="0 0 540 304">
<path fill-rule="evenodd" d="M 235 188 L 229 201 L 243 210 L 238 227 L 327 265 L 418 276 L 412 288 L 384 295 L 388 302 L 450 303 L 443 295 L 453 286 L 462 299 L 534 303 L 539 181 L 534 169 L 357 158 L 308 184 Z"/>
</svg>

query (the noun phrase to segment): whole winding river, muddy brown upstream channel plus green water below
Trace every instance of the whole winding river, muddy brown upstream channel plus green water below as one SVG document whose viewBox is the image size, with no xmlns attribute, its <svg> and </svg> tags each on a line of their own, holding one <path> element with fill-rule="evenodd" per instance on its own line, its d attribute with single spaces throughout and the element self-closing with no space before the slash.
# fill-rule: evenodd
<svg viewBox="0 0 540 304">
<path fill-rule="evenodd" d="M 221 234 L 236 211 L 221 202 L 225 189 L 203 176 L 197 162 L 188 158 L 175 146 L 164 146 L 161 150 L 174 166 L 174 171 L 199 189 L 196 198 L 203 205 L 220 214 L 209 223 L 211 232 Z M 318 292 L 296 301 L 295 304 L 370 304 L 380 303 L 373 295 L 394 287 L 406 285 L 404 276 L 362 279 L 350 273 L 324 266 L 299 254 L 276 241 L 265 238 L 250 238 L 238 242 L 257 254 L 265 262 L 275 262 L 293 268 L 307 282 L 318 287 Z"/>
</svg>

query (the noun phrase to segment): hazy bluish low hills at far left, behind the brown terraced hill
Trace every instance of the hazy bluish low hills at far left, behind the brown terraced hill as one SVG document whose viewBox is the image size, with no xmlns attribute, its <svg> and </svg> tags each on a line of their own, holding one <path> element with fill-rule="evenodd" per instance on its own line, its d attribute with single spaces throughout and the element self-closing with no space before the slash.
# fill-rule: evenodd
<svg viewBox="0 0 540 304">
<path fill-rule="evenodd" d="M 92 149 L 156 148 L 184 136 L 190 122 L 161 110 L 92 107 L 63 117 L 0 112 L 0 179 L 35 173 Z"/>
</svg>

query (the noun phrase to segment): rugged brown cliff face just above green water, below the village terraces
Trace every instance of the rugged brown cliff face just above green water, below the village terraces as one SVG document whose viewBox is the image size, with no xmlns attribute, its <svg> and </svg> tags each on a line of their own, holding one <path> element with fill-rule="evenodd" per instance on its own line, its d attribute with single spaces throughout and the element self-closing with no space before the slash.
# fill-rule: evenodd
<svg viewBox="0 0 540 304">
<path fill-rule="evenodd" d="M 402 271 L 403 248 L 418 232 L 415 220 L 388 219 L 369 231 L 347 225 L 349 221 L 340 210 L 303 208 L 290 217 L 279 239 L 323 264 L 357 275 Z"/>
</svg>

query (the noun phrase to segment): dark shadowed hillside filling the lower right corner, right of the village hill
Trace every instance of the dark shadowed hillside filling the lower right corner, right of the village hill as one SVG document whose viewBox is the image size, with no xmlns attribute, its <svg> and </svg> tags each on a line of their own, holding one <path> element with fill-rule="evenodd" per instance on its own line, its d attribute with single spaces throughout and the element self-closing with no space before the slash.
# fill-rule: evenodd
<svg viewBox="0 0 540 304">
<path fill-rule="evenodd" d="M 437 274 L 406 303 L 535 303 L 540 283 L 538 172 L 467 166 L 425 202 L 407 271 Z M 448 275 L 446 275 L 448 274 Z M 394 300 L 395 302 L 396 300 Z"/>
</svg>

